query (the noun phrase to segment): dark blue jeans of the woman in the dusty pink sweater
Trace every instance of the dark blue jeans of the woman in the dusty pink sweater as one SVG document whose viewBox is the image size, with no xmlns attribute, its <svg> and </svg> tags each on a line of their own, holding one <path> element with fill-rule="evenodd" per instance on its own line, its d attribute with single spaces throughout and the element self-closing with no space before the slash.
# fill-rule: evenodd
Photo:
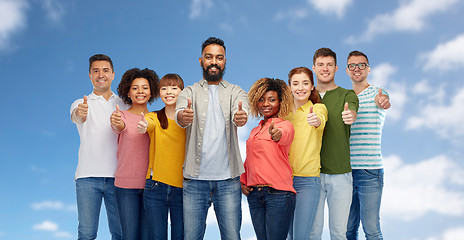
<svg viewBox="0 0 464 240">
<path fill-rule="evenodd" d="M 122 239 L 148 240 L 143 189 L 116 187 L 116 203 L 121 219 Z"/>
</svg>

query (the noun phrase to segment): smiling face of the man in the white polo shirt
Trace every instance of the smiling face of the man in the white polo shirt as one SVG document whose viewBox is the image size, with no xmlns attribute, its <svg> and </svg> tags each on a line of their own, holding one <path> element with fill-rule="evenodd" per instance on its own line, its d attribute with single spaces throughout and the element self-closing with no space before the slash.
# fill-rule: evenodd
<svg viewBox="0 0 464 240">
<path fill-rule="evenodd" d="M 102 95 L 111 91 L 111 82 L 114 72 L 108 61 L 95 61 L 92 63 L 89 73 L 95 94 Z"/>
</svg>

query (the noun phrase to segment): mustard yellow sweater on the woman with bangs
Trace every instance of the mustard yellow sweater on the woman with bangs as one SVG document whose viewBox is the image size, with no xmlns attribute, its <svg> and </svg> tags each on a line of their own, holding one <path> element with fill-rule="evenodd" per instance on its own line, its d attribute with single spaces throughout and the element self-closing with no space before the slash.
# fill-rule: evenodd
<svg viewBox="0 0 464 240">
<path fill-rule="evenodd" d="M 174 187 L 182 187 L 185 157 L 185 129 L 168 118 L 168 128 L 161 128 L 155 112 L 145 115 L 150 136 L 150 163 L 146 178 Z"/>
</svg>

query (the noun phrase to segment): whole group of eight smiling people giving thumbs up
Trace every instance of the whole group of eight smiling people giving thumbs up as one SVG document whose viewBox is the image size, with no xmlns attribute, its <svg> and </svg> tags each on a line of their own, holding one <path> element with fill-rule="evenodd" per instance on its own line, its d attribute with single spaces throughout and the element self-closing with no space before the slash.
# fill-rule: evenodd
<svg viewBox="0 0 464 240">
<path fill-rule="evenodd" d="M 111 59 L 89 59 L 93 91 L 71 106 L 79 136 L 78 239 L 95 239 L 104 200 L 112 239 L 203 239 L 213 204 L 221 239 L 240 239 L 247 196 L 258 240 L 383 239 L 381 133 L 388 94 L 369 85 L 367 56 L 348 55 L 353 90 L 335 84 L 336 54 L 318 49 L 312 70 L 257 80 L 246 93 L 223 79 L 224 41 L 202 44 L 203 78 L 126 71 L 111 91 Z M 149 112 L 161 98 L 165 107 Z M 262 118 L 240 156 L 237 128 Z M 168 221 L 168 216 L 170 217 Z"/>
</svg>

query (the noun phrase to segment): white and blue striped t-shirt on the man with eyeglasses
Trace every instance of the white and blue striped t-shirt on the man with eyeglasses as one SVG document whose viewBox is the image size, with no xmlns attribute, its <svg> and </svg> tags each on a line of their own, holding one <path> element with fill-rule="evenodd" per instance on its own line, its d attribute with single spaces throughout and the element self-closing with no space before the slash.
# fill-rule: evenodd
<svg viewBox="0 0 464 240">
<path fill-rule="evenodd" d="M 383 168 L 380 145 L 386 111 L 375 105 L 378 92 L 378 87 L 369 86 L 358 95 L 358 118 L 351 126 L 350 136 L 352 169 Z"/>
</svg>

